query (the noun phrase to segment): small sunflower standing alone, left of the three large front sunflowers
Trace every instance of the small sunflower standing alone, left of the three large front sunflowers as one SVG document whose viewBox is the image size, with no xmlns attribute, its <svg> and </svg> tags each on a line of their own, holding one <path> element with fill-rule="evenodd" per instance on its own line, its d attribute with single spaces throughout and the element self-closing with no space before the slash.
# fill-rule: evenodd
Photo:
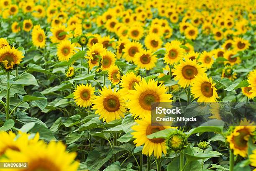
<svg viewBox="0 0 256 171">
<path fill-rule="evenodd" d="M 95 87 L 92 87 L 89 84 L 79 84 L 74 90 L 74 100 L 77 106 L 80 107 L 89 107 L 92 105 L 92 100 L 95 99 L 94 95 Z"/>
</svg>

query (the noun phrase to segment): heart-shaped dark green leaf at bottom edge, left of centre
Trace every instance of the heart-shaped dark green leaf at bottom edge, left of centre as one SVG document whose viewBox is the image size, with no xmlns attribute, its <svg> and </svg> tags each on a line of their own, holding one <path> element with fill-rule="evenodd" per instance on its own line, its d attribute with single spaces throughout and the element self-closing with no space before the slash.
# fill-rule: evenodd
<svg viewBox="0 0 256 171">
<path fill-rule="evenodd" d="M 86 159 L 86 165 L 90 171 L 98 171 L 104 163 L 106 163 L 113 156 L 112 151 L 108 151 L 105 157 L 100 156 L 100 152 L 91 151 Z"/>
</svg>

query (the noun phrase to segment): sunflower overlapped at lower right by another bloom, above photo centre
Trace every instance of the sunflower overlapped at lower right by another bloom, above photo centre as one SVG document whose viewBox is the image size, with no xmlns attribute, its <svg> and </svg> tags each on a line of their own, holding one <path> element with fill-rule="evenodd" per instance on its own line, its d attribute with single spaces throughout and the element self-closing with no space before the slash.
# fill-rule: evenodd
<svg viewBox="0 0 256 171">
<path fill-rule="evenodd" d="M 134 61 L 134 56 L 136 53 L 142 51 L 142 45 L 141 43 L 137 41 L 129 42 L 125 45 L 125 48 L 123 49 L 123 57 L 126 59 L 126 61 Z"/>
</svg>

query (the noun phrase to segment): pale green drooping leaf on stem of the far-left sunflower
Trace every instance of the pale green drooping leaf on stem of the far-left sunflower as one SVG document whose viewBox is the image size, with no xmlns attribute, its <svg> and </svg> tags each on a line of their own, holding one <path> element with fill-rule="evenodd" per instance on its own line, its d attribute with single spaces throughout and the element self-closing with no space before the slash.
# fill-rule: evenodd
<svg viewBox="0 0 256 171">
<path fill-rule="evenodd" d="M 9 80 L 9 82 L 12 84 L 35 85 L 39 87 L 36 81 L 36 78 L 32 74 L 29 74 L 27 72 L 20 74 L 20 76 L 18 77 L 18 80 L 16 81 Z"/>
</svg>

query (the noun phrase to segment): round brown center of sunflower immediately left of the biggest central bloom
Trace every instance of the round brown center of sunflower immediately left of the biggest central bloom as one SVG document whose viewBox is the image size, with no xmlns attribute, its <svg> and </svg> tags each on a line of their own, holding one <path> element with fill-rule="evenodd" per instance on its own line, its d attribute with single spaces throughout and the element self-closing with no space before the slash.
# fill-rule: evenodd
<svg viewBox="0 0 256 171">
<path fill-rule="evenodd" d="M 103 106 L 108 112 L 116 112 L 119 110 L 120 102 L 118 97 L 109 95 L 103 100 Z"/>
</svg>

